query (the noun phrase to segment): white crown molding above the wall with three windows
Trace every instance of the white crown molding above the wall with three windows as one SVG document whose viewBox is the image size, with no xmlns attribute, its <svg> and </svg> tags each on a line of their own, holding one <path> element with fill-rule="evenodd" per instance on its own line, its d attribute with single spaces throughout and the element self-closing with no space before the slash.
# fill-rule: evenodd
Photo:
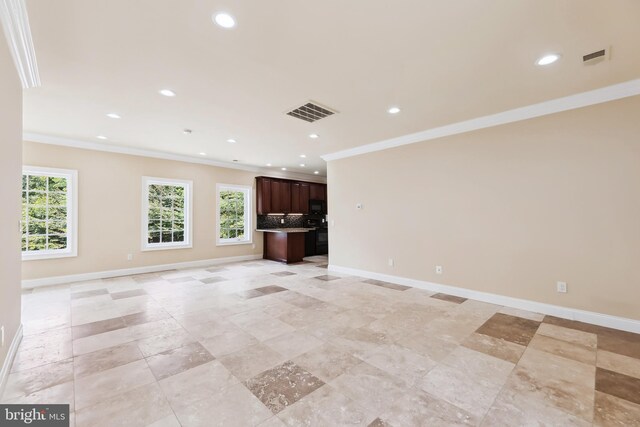
<svg viewBox="0 0 640 427">
<path fill-rule="evenodd" d="M 273 169 L 262 168 L 258 166 L 239 165 L 236 163 L 223 162 L 219 160 L 203 159 L 181 154 L 166 153 L 164 151 L 145 150 L 141 148 L 126 147 L 123 145 L 102 144 L 99 142 L 88 142 L 40 133 L 25 132 L 22 134 L 22 139 L 27 142 L 37 142 L 40 144 L 59 145 L 63 147 L 79 148 L 83 150 L 105 151 L 108 153 L 127 154 L 130 156 L 139 157 L 151 157 L 154 159 L 173 160 L 177 162 L 197 163 L 201 165 L 215 166 L 226 169 L 237 169 L 248 172 L 255 172 L 261 176 L 271 176 L 274 178 L 295 179 L 301 181 L 319 182 L 323 184 L 327 182 L 327 179 L 325 177 L 318 175 L 307 175 L 296 172 L 278 172 L 274 171 Z"/>
</svg>

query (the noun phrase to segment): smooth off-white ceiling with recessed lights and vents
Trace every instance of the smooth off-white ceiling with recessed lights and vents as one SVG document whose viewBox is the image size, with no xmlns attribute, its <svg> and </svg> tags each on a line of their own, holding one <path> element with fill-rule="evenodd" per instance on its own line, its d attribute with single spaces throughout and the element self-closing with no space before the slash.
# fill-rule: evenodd
<svg viewBox="0 0 640 427">
<path fill-rule="evenodd" d="M 42 86 L 25 91 L 25 132 L 298 173 L 324 175 L 323 154 L 640 76 L 636 0 L 27 6 Z M 219 11 L 236 27 L 215 25 Z M 582 64 L 609 46 L 610 60 Z M 535 65 L 549 52 L 562 58 Z M 285 114 L 308 100 L 338 114 Z"/>
</svg>

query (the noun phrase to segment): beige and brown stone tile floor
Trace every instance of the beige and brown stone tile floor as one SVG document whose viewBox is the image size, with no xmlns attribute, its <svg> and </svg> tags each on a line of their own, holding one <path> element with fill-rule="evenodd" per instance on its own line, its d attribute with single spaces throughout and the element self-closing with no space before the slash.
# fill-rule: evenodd
<svg viewBox="0 0 640 427">
<path fill-rule="evenodd" d="M 326 262 L 25 293 L 1 400 L 92 427 L 640 425 L 638 335 Z"/>
</svg>

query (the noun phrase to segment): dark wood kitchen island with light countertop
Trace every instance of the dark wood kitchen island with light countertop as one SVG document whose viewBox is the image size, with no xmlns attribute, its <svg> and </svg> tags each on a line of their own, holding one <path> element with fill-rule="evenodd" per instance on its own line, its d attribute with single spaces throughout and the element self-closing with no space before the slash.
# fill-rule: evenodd
<svg viewBox="0 0 640 427">
<path fill-rule="evenodd" d="M 264 233 L 262 258 L 291 264 L 304 258 L 305 233 L 313 228 L 269 228 L 259 229 Z"/>
</svg>

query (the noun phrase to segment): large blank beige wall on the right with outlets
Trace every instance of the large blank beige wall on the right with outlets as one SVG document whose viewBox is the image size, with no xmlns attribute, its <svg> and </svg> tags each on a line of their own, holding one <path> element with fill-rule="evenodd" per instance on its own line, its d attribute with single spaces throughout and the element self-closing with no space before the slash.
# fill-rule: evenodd
<svg viewBox="0 0 640 427">
<path fill-rule="evenodd" d="M 331 161 L 330 264 L 640 319 L 639 112 L 636 96 Z"/>
</svg>

